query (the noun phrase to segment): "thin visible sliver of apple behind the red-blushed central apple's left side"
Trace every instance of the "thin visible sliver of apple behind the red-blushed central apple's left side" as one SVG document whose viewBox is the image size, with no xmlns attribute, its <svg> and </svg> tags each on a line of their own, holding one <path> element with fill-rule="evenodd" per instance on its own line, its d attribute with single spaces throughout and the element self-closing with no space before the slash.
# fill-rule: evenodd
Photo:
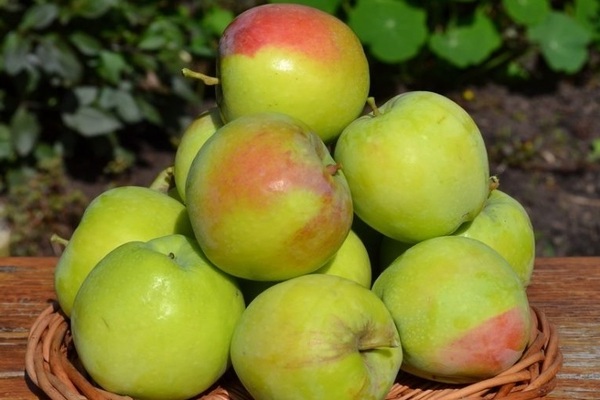
<svg viewBox="0 0 600 400">
<path fill-rule="evenodd" d="M 200 147 L 217 129 L 223 126 L 221 112 L 218 107 L 212 107 L 200 114 L 185 129 L 175 152 L 174 180 L 175 188 L 185 203 L 185 181 Z"/>
</svg>

